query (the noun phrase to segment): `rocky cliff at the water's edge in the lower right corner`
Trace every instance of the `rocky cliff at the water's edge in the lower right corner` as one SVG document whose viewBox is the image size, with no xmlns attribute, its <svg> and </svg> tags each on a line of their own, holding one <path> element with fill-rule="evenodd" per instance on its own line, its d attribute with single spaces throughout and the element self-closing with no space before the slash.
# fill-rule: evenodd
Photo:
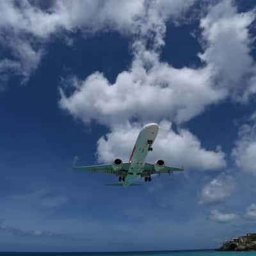
<svg viewBox="0 0 256 256">
<path fill-rule="evenodd" d="M 256 233 L 225 241 L 218 251 L 256 251 Z"/>
</svg>

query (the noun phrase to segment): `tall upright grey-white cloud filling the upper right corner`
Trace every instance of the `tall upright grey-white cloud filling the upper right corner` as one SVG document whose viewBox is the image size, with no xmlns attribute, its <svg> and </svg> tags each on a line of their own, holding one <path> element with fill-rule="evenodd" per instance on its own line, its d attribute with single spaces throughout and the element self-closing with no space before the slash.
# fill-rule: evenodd
<svg viewBox="0 0 256 256">
<path fill-rule="evenodd" d="M 212 68 L 212 79 L 225 86 L 236 100 L 247 100 L 256 67 L 250 51 L 250 25 L 255 12 L 237 13 L 231 0 L 220 1 L 200 20 L 206 49 L 200 58 Z"/>
</svg>

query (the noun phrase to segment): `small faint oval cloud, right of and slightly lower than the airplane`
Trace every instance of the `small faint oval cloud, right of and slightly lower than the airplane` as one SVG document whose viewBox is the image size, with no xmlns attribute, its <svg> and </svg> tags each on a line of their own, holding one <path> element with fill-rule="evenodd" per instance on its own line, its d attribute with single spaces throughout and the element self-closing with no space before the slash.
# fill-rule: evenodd
<svg viewBox="0 0 256 256">
<path fill-rule="evenodd" d="M 221 173 L 216 179 L 211 180 L 200 192 L 200 204 L 216 204 L 223 202 L 232 195 L 236 189 L 232 176 Z"/>
</svg>

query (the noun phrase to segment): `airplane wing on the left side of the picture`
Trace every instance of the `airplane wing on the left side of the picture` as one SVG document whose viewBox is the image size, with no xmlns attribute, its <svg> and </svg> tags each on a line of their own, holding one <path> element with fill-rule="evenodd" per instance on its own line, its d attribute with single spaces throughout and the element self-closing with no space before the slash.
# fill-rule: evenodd
<svg viewBox="0 0 256 256">
<path fill-rule="evenodd" d="M 115 175 L 125 176 L 129 170 L 130 164 L 131 163 L 123 163 L 122 169 L 118 171 L 113 170 L 112 164 L 74 166 L 74 169 L 87 170 L 88 172 L 111 173 Z"/>
</svg>

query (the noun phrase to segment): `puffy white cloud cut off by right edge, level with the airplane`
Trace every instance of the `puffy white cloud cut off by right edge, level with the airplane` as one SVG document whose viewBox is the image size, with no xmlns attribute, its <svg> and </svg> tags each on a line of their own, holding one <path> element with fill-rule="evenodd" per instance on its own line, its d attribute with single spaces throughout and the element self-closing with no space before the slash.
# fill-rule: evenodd
<svg viewBox="0 0 256 256">
<path fill-rule="evenodd" d="M 251 122 L 240 127 L 232 157 L 241 171 L 256 175 L 256 124 L 253 116 Z"/>
</svg>

